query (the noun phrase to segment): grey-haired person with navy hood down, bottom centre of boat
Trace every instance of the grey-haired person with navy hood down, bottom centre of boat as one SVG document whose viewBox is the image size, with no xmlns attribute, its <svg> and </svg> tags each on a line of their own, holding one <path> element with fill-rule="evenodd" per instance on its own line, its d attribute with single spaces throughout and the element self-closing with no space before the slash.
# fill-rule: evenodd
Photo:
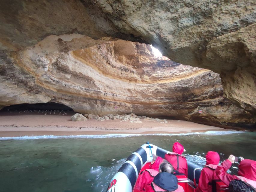
<svg viewBox="0 0 256 192">
<path fill-rule="evenodd" d="M 184 192 L 183 187 L 178 185 L 178 179 L 173 175 L 172 165 L 163 160 L 159 167 L 159 173 L 154 177 L 151 184 L 145 187 L 145 192 Z"/>
</svg>

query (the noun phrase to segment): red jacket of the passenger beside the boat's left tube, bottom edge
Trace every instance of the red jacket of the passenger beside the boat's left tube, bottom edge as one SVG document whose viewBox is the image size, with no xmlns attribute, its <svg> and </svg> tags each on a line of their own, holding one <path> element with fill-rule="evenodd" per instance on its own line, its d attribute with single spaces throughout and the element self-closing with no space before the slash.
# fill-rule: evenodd
<svg viewBox="0 0 256 192">
<path fill-rule="evenodd" d="M 146 169 L 139 177 L 134 186 L 134 191 L 144 192 L 145 187 L 153 182 L 154 177 L 158 174 L 158 171 L 154 169 Z"/>
</svg>

